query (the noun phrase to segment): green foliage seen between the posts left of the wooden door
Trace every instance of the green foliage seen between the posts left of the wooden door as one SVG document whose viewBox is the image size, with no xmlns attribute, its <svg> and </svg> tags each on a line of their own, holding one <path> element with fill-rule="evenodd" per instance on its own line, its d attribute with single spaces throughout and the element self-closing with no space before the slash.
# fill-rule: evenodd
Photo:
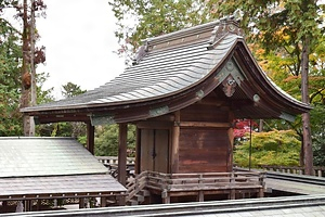
<svg viewBox="0 0 325 217">
<path fill-rule="evenodd" d="M 128 156 L 134 156 L 135 126 L 128 125 Z M 95 155 L 118 155 L 118 125 L 99 126 L 95 129 Z"/>
</svg>

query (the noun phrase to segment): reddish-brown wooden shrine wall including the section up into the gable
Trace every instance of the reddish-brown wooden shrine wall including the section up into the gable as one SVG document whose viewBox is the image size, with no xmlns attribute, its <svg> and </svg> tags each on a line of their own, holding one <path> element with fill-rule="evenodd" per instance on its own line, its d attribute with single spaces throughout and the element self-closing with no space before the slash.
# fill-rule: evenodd
<svg viewBox="0 0 325 217">
<path fill-rule="evenodd" d="M 181 110 L 178 173 L 230 171 L 230 112 L 216 99 Z"/>
</svg>

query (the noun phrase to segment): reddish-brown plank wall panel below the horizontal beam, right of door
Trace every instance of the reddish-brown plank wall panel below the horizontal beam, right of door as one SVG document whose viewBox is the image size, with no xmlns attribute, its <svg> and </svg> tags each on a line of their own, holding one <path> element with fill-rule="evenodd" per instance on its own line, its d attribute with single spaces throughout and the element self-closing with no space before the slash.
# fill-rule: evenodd
<svg viewBox="0 0 325 217">
<path fill-rule="evenodd" d="M 181 128 L 179 173 L 227 171 L 227 130 Z"/>
</svg>

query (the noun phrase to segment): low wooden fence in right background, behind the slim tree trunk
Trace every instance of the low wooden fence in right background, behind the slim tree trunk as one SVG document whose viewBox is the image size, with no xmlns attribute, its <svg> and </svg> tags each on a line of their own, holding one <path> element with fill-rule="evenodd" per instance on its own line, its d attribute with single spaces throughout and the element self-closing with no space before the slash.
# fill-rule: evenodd
<svg viewBox="0 0 325 217">
<path fill-rule="evenodd" d="M 260 167 L 268 171 L 280 171 L 287 174 L 304 175 L 304 168 L 299 166 L 272 166 L 260 165 Z M 325 167 L 314 166 L 314 175 L 316 177 L 325 177 Z"/>
</svg>

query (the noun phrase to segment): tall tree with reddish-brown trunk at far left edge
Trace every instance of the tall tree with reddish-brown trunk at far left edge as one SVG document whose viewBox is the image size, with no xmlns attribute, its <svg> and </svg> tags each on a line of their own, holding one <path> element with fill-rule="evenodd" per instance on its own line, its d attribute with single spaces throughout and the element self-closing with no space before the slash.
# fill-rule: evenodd
<svg viewBox="0 0 325 217">
<path fill-rule="evenodd" d="M 31 1 L 34 2 L 34 1 Z M 29 4 L 30 9 L 32 9 L 31 11 L 39 11 L 39 13 L 46 8 L 46 5 L 42 3 L 41 0 L 38 0 L 34 3 Z M 23 23 L 23 30 L 18 30 L 16 27 L 14 27 L 10 21 L 5 20 L 2 17 L 2 14 L 5 13 L 6 10 L 15 10 L 16 14 L 14 15 L 13 18 L 22 18 L 22 23 Z M 30 10 L 29 10 L 30 11 Z M 34 54 L 30 54 L 30 49 L 31 47 L 34 48 L 32 44 L 32 40 L 30 37 L 30 33 L 35 29 L 35 27 L 32 27 L 31 30 L 31 22 L 30 18 L 31 16 L 28 15 L 28 3 L 27 0 L 24 0 L 23 2 L 16 1 L 16 0 L 6 0 L 6 1 L 0 1 L 0 25 L 1 25 L 1 40 L 0 42 L 3 44 L 8 44 L 8 46 L 12 46 L 12 49 L 8 49 L 9 47 L 4 46 L 3 49 L 6 48 L 6 50 L 11 50 L 10 52 L 6 53 L 6 58 L 8 56 L 14 56 L 14 61 L 16 61 L 16 65 L 15 67 L 21 67 L 21 72 L 20 75 L 16 74 L 16 69 L 15 68 L 13 71 L 8 71 L 8 68 L 1 68 L 1 71 L 3 69 L 3 72 L 1 73 L 5 73 L 5 75 L 3 77 L 11 77 L 14 78 L 15 80 L 20 80 L 21 85 L 20 88 L 16 88 L 16 86 L 9 86 L 4 93 L 8 93 L 8 95 L 11 97 L 11 99 L 16 99 L 16 93 L 21 94 L 21 100 L 18 101 L 18 103 L 16 105 L 20 105 L 21 107 L 25 107 L 29 105 L 29 98 L 30 98 L 30 87 L 31 86 L 36 86 L 37 84 L 37 76 L 36 74 L 34 74 L 32 76 L 30 75 L 30 62 L 32 62 L 32 66 L 44 62 L 44 49 L 43 48 L 36 48 Z M 32 18 L 31 18 L 32 20 Z M 10 31 L 8 31 L 10 29 Z M 5 33 L 4 33 L 5 31 Z M 13 40 L 8 40 L 10 38 L 15 38 L 14 42 Z M 37 38 L 37 35 L 36 37 Z M 23 49 L 22 49 L 22 43 L 21 40 L 23 41 Z M 10 42 L 11 41 L 11 42 Z M 2 44 L 1 44 L 2 47 Z M 17 52 L 17 47 L 20 48 L 20 53 Z M 32 50 L 32 49 L 31 49 Z M 4 58 L 5 55 L 2 55 L 2 58 Z M 6 60 L 8 61 L 8 60 Z M 8 66 L 8 63 L 12 63 L 11 62 L 6 62 L 3 61 L 2 63 L 4 63 L 4 66 Z M 13 65 L 12 65 L 13 66 Z M 4 78 L 3 78 L 4 79 Z M 8 81 L 8 80 L 6 80 Z M 11 92 L 11 90 L 13 92 Z M 34 88 L 34 92 L 37 92 L 37 88 Z M 35 93 L 35 99 L 36 99 L 36 94 Z M 6 97 L 8 97 L 6 95 Z M 13 101 L 13 100 L 11 100 Z M 15 101 L 16 103 L 16 101 Z M 13 105 L 13 103 L 9 103 L 9 105 Z M 18 111 L 18 106 L 16 106 L 16 110 Z M 10 120 L 8 120 L 10 123 Z M 24 118 L 24 133 L 25 135 L 29 135 L 29 118 L 26 117 Z M 32 131 L 32 130 L 31 130 Z M 20 131 L 16 131 L 16 133 L 21 133 Z"/>
</svg>

